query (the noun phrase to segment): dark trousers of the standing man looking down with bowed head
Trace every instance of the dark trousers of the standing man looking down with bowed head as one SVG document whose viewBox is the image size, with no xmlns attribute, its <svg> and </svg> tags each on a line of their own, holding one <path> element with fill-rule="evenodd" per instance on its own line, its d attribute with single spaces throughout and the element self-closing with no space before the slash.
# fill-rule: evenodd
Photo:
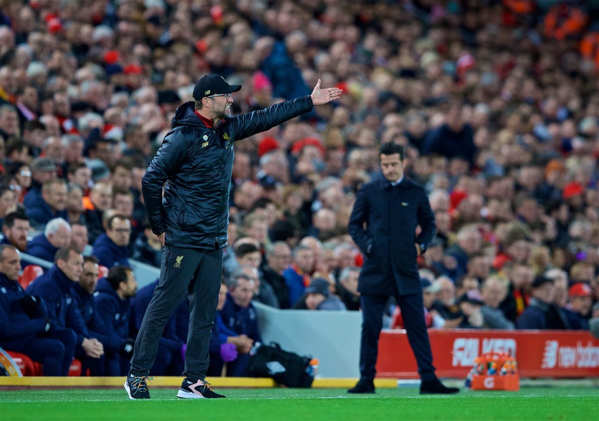
<svg viewBox="0 0 599 421">
<path fill-rule="evenodd" d="M 386 295 L 360 296 L 362 306 L 362 338 L 360 343 L 360 378 L 373 380 L 376 375 L 376 359 L 379 355 L 379 335 L 383 328 L 383 312 L 389 297 Z M 426 332 L 422 294 L 398 295 L 395 300 L 401 308 L 401 316 L 416 362 L 418 374 L 423 381 L 433 380 L 431 344 Z M 398 353 L 405 350 L 398 350 Z"/>
</svg>

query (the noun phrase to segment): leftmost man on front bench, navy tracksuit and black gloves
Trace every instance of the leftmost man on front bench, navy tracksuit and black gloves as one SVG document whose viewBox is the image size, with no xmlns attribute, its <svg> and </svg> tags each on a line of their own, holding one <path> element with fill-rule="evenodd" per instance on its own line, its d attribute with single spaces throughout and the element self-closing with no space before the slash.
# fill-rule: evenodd
<svg viewBox="0 0 599 421">
<path fill-rule="evenodd" d="M 77 336 L 52 326 L 44 302 L 23 291 L 20 261 L 15 247 L 0 245 L 0 346 L 41 362 L 44 375 L 67 375 Z"/>
</svg>

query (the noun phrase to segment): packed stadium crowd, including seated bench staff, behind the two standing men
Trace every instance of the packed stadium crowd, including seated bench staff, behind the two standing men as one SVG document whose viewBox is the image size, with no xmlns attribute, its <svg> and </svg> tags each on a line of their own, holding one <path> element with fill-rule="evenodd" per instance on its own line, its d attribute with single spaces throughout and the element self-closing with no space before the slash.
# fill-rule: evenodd
<svg viewBox="0 0 599 421">
<path fill-rule="evenodd" d="M 598 16 L 592 1 L 0 0 L 0 346 L 46 375 L 73 356 L 126 372 L 157 283 L 137 290 L 129 259 L 162 259 L 141 178 L 208 73 L 243 86 L 234 113 L 318 78 L 344 90 L 235 143 L 209 375 L 244 374 L 260 340 L 252 301 L 359 310 L 347 223 L 385 142 L 407 148 L 435 214 L 418 261 L 428 326 L 588 329 Z M 19 252 L 53 263 L 26 290 Z M 182 371 L 186 311 L 153 374 Z M 402 326 L 393 303 L 386 326 Z"/>
</svg>

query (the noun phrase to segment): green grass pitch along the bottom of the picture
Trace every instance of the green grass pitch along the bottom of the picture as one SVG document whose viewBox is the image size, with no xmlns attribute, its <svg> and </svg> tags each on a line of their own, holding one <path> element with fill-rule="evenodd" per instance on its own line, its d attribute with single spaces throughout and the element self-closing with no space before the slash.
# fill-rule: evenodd
<svg viewBox="0 0 599 421">
<path fill-rule="evenodd" d="M 523 387 L 519 392 L 419 395 L 418 389 L 218 389 L 227 399 L 177 399 L 177 389 L 150 388 L 150 401 L 124 389 L 0 392 L 0 420 L 594 420 L 594 387 Z"/>
</svg>

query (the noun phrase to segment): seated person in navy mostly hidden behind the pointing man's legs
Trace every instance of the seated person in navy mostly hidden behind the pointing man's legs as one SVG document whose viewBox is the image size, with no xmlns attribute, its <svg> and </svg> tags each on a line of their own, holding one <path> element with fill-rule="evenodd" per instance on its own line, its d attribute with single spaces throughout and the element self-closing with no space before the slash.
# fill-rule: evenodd
<svg viewBox="0 0 599 421">
<path fill-rule="evenodd" d="M 136 331 L 141 327 L 141 322 L 143 321 L 144 314 L 146 314 L 147 307 L 152 300 L 156 286 L 158 286 L 158 279 L 138 290 L 131 301 L 131 321 Z M 183 372 L 183 358 L 181 358 L 181 352 L 184 349 L 184 342 L 181 340 L 179 334 L 177 334 L 177 320 L 181 319 L 181 317 L 179 317 L 179 313 L 181 312 L 187 313 L 186 318 L 189 323 L 189 311 L 186 310 L 184 305 L 179 305 L 171 318 L 168 319 L 168 322 L 164 325 L 162 337 L 158 342 L 156 361 L 152 366 L 153 374 L 181 375 Z M 184 337 L 184 340 L 187 340 L 187 336 Z"/>
</svg>

